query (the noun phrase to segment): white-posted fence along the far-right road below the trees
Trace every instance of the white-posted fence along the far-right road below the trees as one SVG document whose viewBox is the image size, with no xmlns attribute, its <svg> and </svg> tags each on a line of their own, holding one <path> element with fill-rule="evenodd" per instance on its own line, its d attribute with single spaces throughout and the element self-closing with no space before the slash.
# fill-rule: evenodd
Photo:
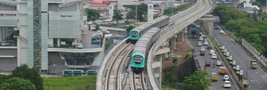
<svg viewBox="0 0 267 90">
<path fill-rule="evenodd" d="M 245 38 L 242 38 L 242 45 L 253 55 L 261 64 L 266 68 L 267 67 L 267 58 L 261 54 L 260 50 L 250 44 Z"/>
</svg>

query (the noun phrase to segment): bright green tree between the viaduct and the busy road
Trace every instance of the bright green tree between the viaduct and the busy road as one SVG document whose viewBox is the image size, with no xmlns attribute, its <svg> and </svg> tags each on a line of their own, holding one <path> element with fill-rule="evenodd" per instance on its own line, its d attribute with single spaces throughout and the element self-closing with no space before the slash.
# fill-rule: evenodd
<svg viewBox="0 0 267 90">
<path fill-rule="evenodd" d="M 209 80 L 211 76 L 206 71 L 196 71 L 190 77 L 184 77 L 183 90 L 209 90 L 213 81 Z"/>
</svg>

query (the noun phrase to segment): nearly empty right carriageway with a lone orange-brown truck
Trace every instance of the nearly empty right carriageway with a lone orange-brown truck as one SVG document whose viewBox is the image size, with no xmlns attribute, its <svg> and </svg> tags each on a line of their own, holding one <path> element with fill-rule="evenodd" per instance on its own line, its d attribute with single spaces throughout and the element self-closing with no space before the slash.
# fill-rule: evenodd
<svg viewBox="0 0 267 90">
<path fill-rule="evenodd" d="M 234 42 L 233 39 L 231 39 L 226 34 L 220 34 L 221 28 L 219 30 L 214 29 L 215 26 L 213 26 L 213 36 L 217 40 L 217 42 L 225 46 L 227 51 L 230 53 L 230 55 L 233 56 L 233 60 L 236 60 L 236 65 L 240 66 L 240 70 L 243 70 L 244 76 L 246 76 L 246 67 L 247 62 L 248 63 L 248 79 L 250 84 L 250 89 L 252 90 L 263 90 L 267 89 L 267 74 L 258 66 L 257 69 L 251 69 L 250 68 L 250 57 L 246 54 L 246 52 L 237 44 Z M 249 59 L 249 61 L 248 61 Z M 263 85 L 264 84 L 264 85 Z"/>
</svg>

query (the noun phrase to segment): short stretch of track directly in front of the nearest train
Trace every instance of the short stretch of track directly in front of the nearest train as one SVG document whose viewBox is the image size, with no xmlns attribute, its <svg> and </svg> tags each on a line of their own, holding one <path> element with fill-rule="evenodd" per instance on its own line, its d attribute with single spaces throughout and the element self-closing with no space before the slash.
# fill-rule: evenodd
<svg viewBox="0 0 267 90">
<path fill-rule="evenodd" d="M 132 89 L 133 90 L 146 90 L 144 83 L 144 73 L 134 73 L 132 72 Z"/>
</svg>

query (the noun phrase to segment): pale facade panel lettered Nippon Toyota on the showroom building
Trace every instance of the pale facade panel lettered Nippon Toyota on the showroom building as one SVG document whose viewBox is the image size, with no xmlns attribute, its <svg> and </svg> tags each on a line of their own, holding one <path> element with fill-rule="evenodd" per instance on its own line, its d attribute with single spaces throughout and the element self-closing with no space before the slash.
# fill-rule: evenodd
<svg viewBox="0 0 267 90">
<path fill-rule="evenodd" d="M 82 21 L 78 11 L 49 11 L 49 37 L 77 38 Z"/>
</svg>

